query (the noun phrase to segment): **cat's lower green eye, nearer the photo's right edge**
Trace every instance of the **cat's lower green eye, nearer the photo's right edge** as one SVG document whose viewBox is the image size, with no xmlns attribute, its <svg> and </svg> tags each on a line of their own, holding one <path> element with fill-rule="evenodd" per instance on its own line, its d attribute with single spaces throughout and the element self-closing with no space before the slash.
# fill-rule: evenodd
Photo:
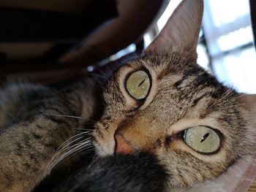
<svg viewBox="0 0 256 192">
<path fill-rule="evenodd" d="M 195 126 L 184 132 L 184 142 L 200 153 L 214 153 L 219 149 L 219 134 L 206 126 Z"/>
</svg>

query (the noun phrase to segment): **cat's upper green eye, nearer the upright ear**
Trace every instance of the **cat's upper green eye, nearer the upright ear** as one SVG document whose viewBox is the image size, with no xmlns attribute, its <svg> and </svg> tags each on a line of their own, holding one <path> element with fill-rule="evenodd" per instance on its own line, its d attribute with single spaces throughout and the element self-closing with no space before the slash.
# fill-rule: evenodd
<svg viewBox="0 0 256 192">
<path fill-rule="evenodd" d="M 133 72 L 127 79 L 127 91 L 135 99 L 145 99 L 150 88 L 148 74 L 142 70 Z"/>
</svg>

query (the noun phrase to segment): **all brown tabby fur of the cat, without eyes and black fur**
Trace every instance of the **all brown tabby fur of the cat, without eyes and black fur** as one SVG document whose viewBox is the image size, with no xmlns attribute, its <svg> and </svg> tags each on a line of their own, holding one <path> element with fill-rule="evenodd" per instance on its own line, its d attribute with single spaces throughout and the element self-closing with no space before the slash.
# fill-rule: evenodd
<svg viewBox="0 0 256 192">
<path fill-rule="evenodd" d="M 181 3 L 146 55 L 121 66 L 106 82 L 103 114 L 95 123 L 97 155 L 113 155 L 118 134 L 125 144 L 121 150 L 157 156 L 170 174 L 170 187 L 211 179 L 241 155 L 255 153 L 255 96 L 223 86 L 196 64 L 202 14 L 203 1 Z M 151 88 L 138 101 L 124 84 L 131 72 L 141 69 L 150 75 Z M 0 191 L 33 190 L 72 141 L 79 144 L 78 128 L 97 110 L 95 96 L 100 93 L 89 80 L 61 90 L 27 83 L 2 88 Z M 181 132 L 193 126 L 219 130 L 216 153 L 197 153 L 185 144 Z M 56 153 L 65 141 L 63 153 Z"/>
</svg>

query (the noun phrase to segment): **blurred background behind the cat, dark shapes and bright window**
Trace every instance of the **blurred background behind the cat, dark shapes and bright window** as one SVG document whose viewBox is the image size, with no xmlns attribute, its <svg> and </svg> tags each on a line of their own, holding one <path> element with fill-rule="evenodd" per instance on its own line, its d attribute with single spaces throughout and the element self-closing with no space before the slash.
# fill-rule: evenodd
<svg viewBox="0 0 256 192">
<path fill-rule="evenodd" d="M 180 2 L 0 0 L 0 80 L 51 84 L 141 52 Z M 225 85 L 256 93 L 249 0 L 204 2 L 198 64 Z"/>
</svg>

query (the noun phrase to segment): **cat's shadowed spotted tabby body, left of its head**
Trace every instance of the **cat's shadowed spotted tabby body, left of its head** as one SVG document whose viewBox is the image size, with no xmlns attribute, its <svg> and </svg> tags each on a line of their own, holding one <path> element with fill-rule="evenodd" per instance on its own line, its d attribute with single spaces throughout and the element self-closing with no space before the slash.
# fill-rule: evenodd
<svg viewBox="0 0 256 192">
<path fill-rule="evenodd" d="M 83 90 L 86 93 L 80 93 Z M 56 150 L 78 133 L 84 119 L 94 111 L 92 90 L 90 82 L 62 90 L 16 82 L 1 90 L 0 148 L 4 163 L 1 163 L 0 186 L 20 183 L 25 186 L 18 191 L 29 191 L 49 173 L 47 166 L 54 161 Z M 52 115 L 60 113 L 81 118 Z"/>
</svg>

